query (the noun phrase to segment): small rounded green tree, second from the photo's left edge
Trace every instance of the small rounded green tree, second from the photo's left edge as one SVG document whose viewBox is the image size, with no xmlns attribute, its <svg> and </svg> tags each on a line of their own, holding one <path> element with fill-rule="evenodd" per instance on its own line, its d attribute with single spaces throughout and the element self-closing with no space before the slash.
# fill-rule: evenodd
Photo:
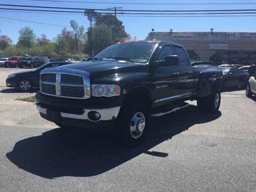
<svg viewBox="0 0 256 192">
<path fill-rule="evenodd" d="M 19 41 L 18 45 L 25 46 L 25 47 L 31 47 L 35 44 L 36 41 L 36 35 L 30 27 L 21 28 L 19 30 Z"/>
</svg>

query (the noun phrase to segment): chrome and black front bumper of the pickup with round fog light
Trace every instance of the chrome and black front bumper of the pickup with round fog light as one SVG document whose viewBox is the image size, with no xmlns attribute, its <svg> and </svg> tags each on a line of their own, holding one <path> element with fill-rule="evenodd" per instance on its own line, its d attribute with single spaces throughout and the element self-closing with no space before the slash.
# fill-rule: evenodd
<svg viewBox="0 0 256 192">
<path fill-rule="evenodd" d="M 36 94 L 36 107 L 41 117 L 58 125 L 77 127 L 104 127 L 113 124 L 119 114 L 120 106 L 98 108 L 90 105 L 76 105 L 76 102 L 63 103 L 60 98 L 52 98 L 50 103 L 44 102 L 49 96 Z M 47 100 L 49 101 L 49 100 Z M 64 101 L 64 100 L 63 100 Z M 75 104 L 76 103 L 76 104 Z M 62 105 L 61 105 L 62 104 Z M 108 103 L 109 105 L 110 103 Z"/>
</svg>

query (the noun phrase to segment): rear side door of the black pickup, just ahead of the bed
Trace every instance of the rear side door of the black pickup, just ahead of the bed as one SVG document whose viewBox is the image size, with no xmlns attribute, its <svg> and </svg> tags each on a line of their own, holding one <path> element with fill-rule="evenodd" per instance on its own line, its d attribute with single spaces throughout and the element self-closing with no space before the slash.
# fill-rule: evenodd
<svg viewBox="0 0 256 192">
<path fill-rule="evenodd" d="M 178 90 L 181 98 L 190 97 L 194 89 L 194 70 L 189 62 L 187 52 L 181 46 L 173 45 L 175 54 L 179 56 L 179 82 Z"/>
</svg>

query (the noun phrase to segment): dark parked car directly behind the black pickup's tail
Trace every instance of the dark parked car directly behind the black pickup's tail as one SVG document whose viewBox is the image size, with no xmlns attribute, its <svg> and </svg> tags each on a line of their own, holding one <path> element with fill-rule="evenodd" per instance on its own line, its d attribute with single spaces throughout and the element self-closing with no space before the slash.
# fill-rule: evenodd
<svg viewBox="0 0 256 192">
<path fill-rule="evenodd" d="M 249 73 L 236 67 L 218 67 L 222 70 L 222 87 L 243 87 L 245 88 L 250 77 Z"/>
</svg>

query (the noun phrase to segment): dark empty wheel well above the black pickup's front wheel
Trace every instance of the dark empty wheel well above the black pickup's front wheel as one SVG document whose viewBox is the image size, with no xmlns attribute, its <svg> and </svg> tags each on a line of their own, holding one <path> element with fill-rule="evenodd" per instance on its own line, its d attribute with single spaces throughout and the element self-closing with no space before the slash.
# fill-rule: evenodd
<svg viewBox="0 0 256 192">
<path fill-rule="evenodd" d="M 124 104 L 130 104 L 131 102 L 140 102 L 145 105 L 148 110 L 151 108 L 151 93 L 146 87 L 138 87 L 127 93 L 124 97 Z"/>
</svg>

